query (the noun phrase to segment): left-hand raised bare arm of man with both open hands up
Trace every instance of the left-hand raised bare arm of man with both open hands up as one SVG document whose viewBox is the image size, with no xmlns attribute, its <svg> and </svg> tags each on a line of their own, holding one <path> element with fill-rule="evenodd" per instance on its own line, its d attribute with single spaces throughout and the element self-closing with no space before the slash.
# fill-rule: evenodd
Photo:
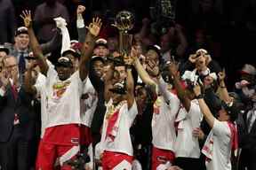
<svg viewBox="0 0 256 170">
<path fill-rule="evenodd" d="M 34 33 L 32 27 L 32 19 L 31 19 L 31 12 L 30 11 L 23 11 L 20 17 L 23 19 L 25 27 L 28 27 L 28 36 L 30 40 L 30 46 L 33 50 L 35 58 L 38 60 L 38 65 L 40 66 L 40 71 L 46 75 L 49 69 L 49 66 L 44 58 L 42 49 L 36 39 L 36 35 Z"/>
</svg>

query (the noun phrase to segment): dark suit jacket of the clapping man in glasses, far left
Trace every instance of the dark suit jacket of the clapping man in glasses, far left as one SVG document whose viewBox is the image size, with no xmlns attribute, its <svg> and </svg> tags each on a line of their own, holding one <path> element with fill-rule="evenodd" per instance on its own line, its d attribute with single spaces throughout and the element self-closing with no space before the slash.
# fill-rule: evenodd
<svg viewBox="0 0 256 170">
<path fill-rule="evenodd" d="M 14 128 L 14 114 L 18 114 L 21 135 L 29 140 L 34 135 L 35 114 L 32 108 L 33 97 L 25 92 L 23 87 L 18 92 L 17 99 L 14 98 L 12 87 L 8 85 L 4 97 L 0 96 L 0 142 L 8 142 Z"/>
</svg>

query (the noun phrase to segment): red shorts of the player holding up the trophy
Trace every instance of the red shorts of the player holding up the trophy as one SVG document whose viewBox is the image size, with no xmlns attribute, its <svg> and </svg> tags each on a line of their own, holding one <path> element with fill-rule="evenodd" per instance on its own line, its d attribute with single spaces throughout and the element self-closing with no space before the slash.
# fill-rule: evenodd
<svg viewBox="0 0 256 170">
<path fill-rule="evenodd" d="M 114 168 L 119 169 L 117 166 L 121 166 L 121 164 L 125 162 L 126 164 L 122 166 L 122 169 L 131 170 L 132 160 L 132 156 L 124 153 L 104 151 L 102 157 L 102 167 L 103 170 L 112 170 Z"/>
</svg>

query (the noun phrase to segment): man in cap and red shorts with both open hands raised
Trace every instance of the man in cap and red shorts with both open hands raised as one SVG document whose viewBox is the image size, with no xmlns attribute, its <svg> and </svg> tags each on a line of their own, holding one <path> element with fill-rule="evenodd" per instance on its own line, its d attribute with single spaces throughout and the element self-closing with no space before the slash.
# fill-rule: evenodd
<svg viewBox="0 0 256 170">
<path fill-rule="evenodd" d="M 73 73 L 72 62 L 66 57 L 58 59 L 56 70 L 48 65 L 32 29 L 30 12 L 23 12 L 21 17 L 28 27 L 31 47 L 40 70 L 46 76 L 42 86 L 32 85 L 29 76 L 31 73 L 28 72 L 26 76 L 27 91 L 31 94 L 40 93 L 42 97 L 42 140 L 36 169 L 52 169 L 57 158 L 61 168 L 71 169 L 71 166 L 64 163 L 74 158 L 80 151 L 80 97 L 83 81 L 88 73 L 86 64 L 92 56 L 95 39 L 100 33 L 101 20 L 92 19 L 84 42 L 79 69 Z"/>
</svg>

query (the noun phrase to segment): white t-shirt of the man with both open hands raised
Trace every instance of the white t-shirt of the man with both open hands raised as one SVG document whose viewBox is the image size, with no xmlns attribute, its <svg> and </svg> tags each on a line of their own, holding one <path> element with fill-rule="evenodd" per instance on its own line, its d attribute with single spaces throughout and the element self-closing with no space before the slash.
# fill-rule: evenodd
<svg viewBox="0 0 256 170">
<path fill-rule="evenodd" d="M 45 83 L 36 84 L 35 87 L 41 94 L 43 131 L 44 128 L 58 125 L 80 124 L 80 97 L 83 82 L 78 71 L 68 80 L 60 81 L 54 67 L 49 66 Z"/>
</svg>

